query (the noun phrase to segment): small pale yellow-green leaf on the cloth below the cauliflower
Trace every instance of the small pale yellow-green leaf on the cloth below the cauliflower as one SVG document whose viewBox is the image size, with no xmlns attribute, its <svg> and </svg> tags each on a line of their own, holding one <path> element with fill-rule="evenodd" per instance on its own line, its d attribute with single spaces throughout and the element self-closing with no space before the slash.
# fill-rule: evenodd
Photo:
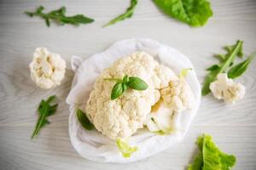
<svg viewBox="0 0 256 170">
<path fill-rule="evenodd" d="M 132 147 L 122 139 L 117 139 L 116 144 L 124 157 L 130 157 L 133 152 L 138 150 L 136 146 Z"/>
</svg>

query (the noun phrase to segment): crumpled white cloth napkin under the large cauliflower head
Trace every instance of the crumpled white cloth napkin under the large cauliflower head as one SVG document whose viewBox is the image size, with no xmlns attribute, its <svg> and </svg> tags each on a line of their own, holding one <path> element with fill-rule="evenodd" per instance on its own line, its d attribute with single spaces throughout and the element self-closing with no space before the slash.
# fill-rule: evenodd
<svg viewBox="0 0 256 170">
<path fill-rule="evenodd" d="M 169 66 L 177 74 L 183 68 L 192 68 L 193 71 L 189 71 L 186 81 L 195 94 L 195 106 L 192 110 L 183 111 L 174 116 L 173 121 L 178 129 L 176 133 L 156 135 L 144 129 L 132 135 L 129 143 L 137 146 L 138 150 L 131 157 L 124 158 L 120 154 L 115 141 L 108 139 L 95 129 L 87 131 L 81 127 L 76 117 L 76 111 L 78 107 L 84 108 L 96 77 L 100 75 L 103 69 L 108 68 L 115 60 L 135 51 L 144 51 L 151 54 L 160 64 Z M 73 71 L 75 71 L 75 76 L 72 89 L 67 96 L 67 104 L 70 105 L 69 136 L 79 155 L 91 161 L 125 163 L 138 161 L 166 150 L 183 139 L 200 105 L 201 86 L 190 60 L 176 49 L 150 39 L 126 39 L 115 42 L 102 53 L 94 54 L 84 61 L 73 56 L 71 65 Z"/>
</svg>

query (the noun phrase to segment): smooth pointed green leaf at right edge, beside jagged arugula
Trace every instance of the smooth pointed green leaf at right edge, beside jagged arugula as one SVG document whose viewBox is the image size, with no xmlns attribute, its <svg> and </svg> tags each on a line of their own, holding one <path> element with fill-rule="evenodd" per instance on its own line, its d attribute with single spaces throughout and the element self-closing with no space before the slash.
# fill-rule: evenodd
<svg viewBox="0 0 256 170">
<path fill-rule="evenodd" d="M 232 66 L 230 68 L 230 71 L 228 72 L 228 77 L 233 79 L 240 77 L 245 71 L 247 71 L 248 65 L 252 62 L 255 56 L 256 53 L 251 54 L 246 60 L 242 61 L 237 65 Z"/>
</svg>

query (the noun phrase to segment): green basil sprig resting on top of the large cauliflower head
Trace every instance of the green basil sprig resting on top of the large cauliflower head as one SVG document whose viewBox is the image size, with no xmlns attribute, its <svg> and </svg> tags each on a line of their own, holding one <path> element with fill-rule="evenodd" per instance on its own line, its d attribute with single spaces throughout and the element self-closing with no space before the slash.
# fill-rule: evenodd
<svg viewBox="0 0 256 170">
<path fill-rule="evenodd" d="M 119 78 L 105 78 L 104 80 L 116 82 L 111 92 L 111 99 L 117 99 L 120 95 L 124 94 L 127 88 L 135 90 L 146 90 L 148 84 L 139 77 L 128 77 L 125 75 L 123 79 Z"/>
</svg>

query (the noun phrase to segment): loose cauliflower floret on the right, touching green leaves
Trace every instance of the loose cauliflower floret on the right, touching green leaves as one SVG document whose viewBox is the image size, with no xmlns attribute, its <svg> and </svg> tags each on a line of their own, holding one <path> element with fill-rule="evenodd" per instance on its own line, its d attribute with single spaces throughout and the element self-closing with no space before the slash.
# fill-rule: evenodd
<svg viewBox="0 0 256 170">
<path fill-rule="evenodd" d="M 210 89 L 215 98 L 224 99 L 224 102 L 232 104 L 242 99 L 246 93 L 246 88 L 228 78 L 226 73 L 218 74 L 217 80 L 210 84 Z"/>
</svg>

